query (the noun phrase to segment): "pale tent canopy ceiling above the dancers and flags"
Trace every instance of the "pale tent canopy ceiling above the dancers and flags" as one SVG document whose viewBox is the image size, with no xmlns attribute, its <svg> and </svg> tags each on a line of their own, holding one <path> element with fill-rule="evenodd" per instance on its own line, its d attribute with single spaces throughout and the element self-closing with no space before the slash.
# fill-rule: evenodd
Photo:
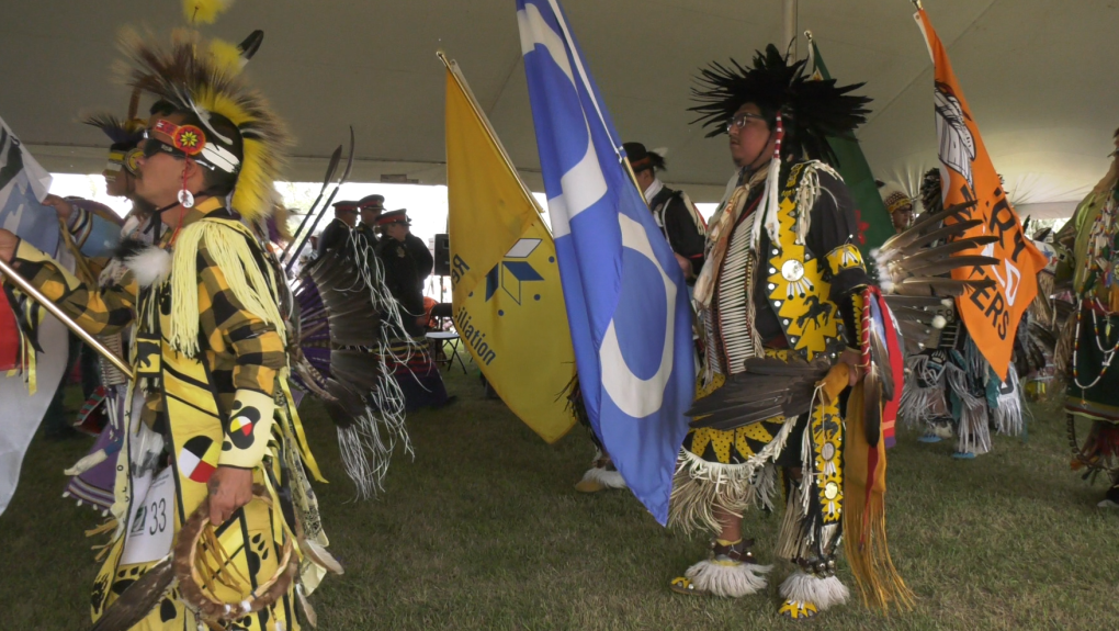
<svg viewBox="0 0 1119 631">
<path fill-rule="evenodd" d="M 780 0 L 564 0 L 619 132 L 667 147 L 665 179 L 713 201 L 725 139 L 689 124 L 696 70 L 745 63 L 782 32 Z M 935 164 L 932 64 L 904 0 L 800 0 L 831 74 L 874 98 L 859 131 L 875 173 L 915 192 Z M 1108 0 L 928 0 L 995 168 L 1023 215 L 1066 216 L 1107 169 L 1119 125 L 1119 11 Z M 445 181 L 443 67 L 458 59 L 529 187 L 540 190 L 514 0 L 238 0 L 205 34 L 265 31 L 246 72 L 299 144 L 291 180 L 322 177 L 357 133 L 357 181 Z M 79 112 L 123 114 L 111 83 L 116 29 L 184 22 L 177 0 L 9 2 L 0 27 L 0 114 L 51 171 L 97 172 L 105 139 Z M 805 50 L 803 44 L 800 50 Z M 1028 205 L 1028 206 L 1027 206 Z"/>
</svg>

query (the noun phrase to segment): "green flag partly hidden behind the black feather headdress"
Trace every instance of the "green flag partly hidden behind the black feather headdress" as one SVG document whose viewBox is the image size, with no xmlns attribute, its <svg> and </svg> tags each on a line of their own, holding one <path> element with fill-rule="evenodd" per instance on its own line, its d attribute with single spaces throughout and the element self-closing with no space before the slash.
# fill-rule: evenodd
<svg viewBox="0 0 1119 631">
<path fill-rule="evenodd" d="M 809 40 L 809 69 L 820 79 L 829 79 L 827 66 L 820 57 L 820 49 L 816 41 Z M 858 141 L 843 138 L 829 138 L 828 144 L 839 159 L 839 175 L 850 189 L 852 197 L 855 198 L 855 219 L 858 223 L 858 247 L 863 251 L 863 257 L 882 245 L 894 234 L 894 224 L 886 213 L 886 205 L 882 203 L 878 195 L 878 186 L 874 183 L 874 173 L 871 166 L 866 163 Z M 867 261 L 869 263 L 869 261 Z"/>
</svg>

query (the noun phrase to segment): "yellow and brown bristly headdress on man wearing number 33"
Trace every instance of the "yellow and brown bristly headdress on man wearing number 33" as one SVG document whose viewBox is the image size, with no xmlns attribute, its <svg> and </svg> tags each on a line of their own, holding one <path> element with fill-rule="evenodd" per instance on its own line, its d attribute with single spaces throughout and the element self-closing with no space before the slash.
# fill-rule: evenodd
<svg viewBox="0 0 1119 631">
<path fill-rule="evenodd" d="M 258 46 L 256 34 L 246 43 L 254 37 Z M 243 141 L 233 209 L 251 222 L 267 217 L 274 203 L 273 182 L 285 162 L 290 139 L 264 96 L 228 64 L 208 54 L 194 30 L 175 31 L 170 48 L 126 30 L 120 47 L 128 57 L 123 72 L 129 85 L 194 111 L 204 125 L 214 114 L 233 122 Z M 220 138 L 213 129 L 206 131 L 215 136 L 211 141 Z"/>
</svg>

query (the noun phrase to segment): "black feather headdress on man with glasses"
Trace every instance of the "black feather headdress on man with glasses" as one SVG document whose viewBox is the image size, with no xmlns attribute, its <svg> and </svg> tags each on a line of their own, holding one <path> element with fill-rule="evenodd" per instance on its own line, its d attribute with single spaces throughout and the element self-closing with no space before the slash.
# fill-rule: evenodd
<svg viewBox="0 0 1119 631">
<path fill-rule="evenodd" d="M 780 113 L 786 131 L 782 141 L 794 153 L 837 164 L 828 136 L 853 138 L 858 125 L 866 122 L 871 102 L 866 96 L 850 94 L 863 84 L 837 86 L 835 79 L 816 81 L 803 73 L 805 60 L 789 64 L 772 44 L 765 53 L 754 54 L 753 66 L 742 66 L 731 59 L 730 66 L 717 62 L 699 70 L 698 86 L 692 90 L 699 104 L 695 123 L 713 128 L 712 138 L 726 132 L 726 122 L 739 107 L 754 103 L 763 110 Z"/>
</svg>

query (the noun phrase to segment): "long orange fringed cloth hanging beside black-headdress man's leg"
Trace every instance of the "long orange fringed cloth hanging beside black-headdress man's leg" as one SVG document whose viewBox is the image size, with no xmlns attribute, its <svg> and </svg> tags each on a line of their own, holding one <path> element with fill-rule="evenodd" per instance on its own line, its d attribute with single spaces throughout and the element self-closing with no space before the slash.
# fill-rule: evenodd
<svg viewBox="0 0 1119 631">
<path fill-rule="evenodd" d="M 863 418 L 863 383 L 856 385 L 847 403 L 843 510 L 847 563 L 867 608 L 888 613 L 893 603 L 912 610 L 915 596 L 897 574 L 886 543 L 886 445 L 881 436 L 875 448 L 877 465 L 873 473 L 868 471 L 871 445 Z"/>
</svg>

